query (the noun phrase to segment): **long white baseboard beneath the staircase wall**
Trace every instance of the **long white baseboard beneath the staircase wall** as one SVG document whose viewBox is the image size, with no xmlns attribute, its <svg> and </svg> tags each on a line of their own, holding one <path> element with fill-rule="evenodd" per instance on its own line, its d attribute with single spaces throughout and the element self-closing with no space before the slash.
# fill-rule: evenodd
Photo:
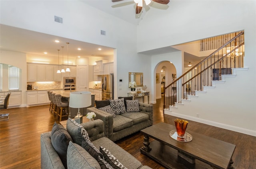
<svg viewBox="0 0 256 169">
<path fill-rule="evenodd" d="M 202 119 L 202 118 L 187 116 L 187 115 L 184 115 L 184 114 L 178 114 L 178 113 L 174 113 L 174 112 L 171 112 L 171 111 L 164 111 L 164 114 L 168 114 L 168 115 L 171 115 L 171 116 L 176 116 L 176 117 L 179 117 L 179 118 L 192 120 L 194 122 L 208 124 L 210 126 L 224 128 L 226 130 L 232 130 L 234 132 L 239 132 L 239 133 L 242 133 L 242 134 L 248 134 L 248 135 L 251 135 L 251 136 L 256 136 L 256 131 L 248 130 L 246 128 L 240 128 L 240 127 L 231 126 L 231 125 L 228 125 L 228 124 L 213 122 L 213 121 L 210 121 L 210 120 L 205 120 L 205 119 Z"/>
</svg>

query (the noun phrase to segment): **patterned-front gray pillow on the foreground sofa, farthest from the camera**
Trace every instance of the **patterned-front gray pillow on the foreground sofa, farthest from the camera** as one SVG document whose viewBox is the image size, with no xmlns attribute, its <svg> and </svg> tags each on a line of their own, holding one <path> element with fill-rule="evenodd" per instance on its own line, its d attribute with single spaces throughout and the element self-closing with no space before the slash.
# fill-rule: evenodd
<svg viewBox="0 0 256 169">
<path fill-rule="evenodd" d="M 68 118 L 67 131 L 78 145 L 82 145 L 84 139 L 90 140 L 88 133 L 81 124 L 78 124 L 75 120 Z"/>
</svg>

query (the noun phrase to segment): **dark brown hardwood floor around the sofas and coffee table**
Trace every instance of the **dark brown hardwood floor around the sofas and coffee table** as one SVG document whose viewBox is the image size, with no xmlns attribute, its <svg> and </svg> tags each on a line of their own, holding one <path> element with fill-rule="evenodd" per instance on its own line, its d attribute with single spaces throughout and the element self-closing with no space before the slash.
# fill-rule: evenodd
<svg viewBox="0 0 256 169">
<path fill-rule="evenodd" d="M 163 115 L 162 99 L 156 100 L 154 124 L 174 124 L 176 117 Z M 40 168 L 40 134 L 52 130 L 56 118 L 48 111 L 49 105 L 28 108 L 10 108 L 0 113 L 10 113 L 8 121 L 0 122 L 0 168 Z M 189 121 L 187 130 L 198 132 L 236 145 L 233 154 L 236 169 L 256 169 L 256 137 Z M 143 145 L 140 132 L 116 141 L 118 145 L 136 157 L 143 165 L 164 169 L 162 165 L 140 153 Z"/>
</svg>

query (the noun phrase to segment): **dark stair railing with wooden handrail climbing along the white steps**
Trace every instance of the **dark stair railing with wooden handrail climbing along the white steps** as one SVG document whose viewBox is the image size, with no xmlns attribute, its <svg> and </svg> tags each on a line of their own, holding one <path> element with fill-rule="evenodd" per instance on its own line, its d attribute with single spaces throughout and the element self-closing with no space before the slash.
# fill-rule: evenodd
<svg viewBox="0 0 256 169">
<path fill-rule="evenodd" d="M 164 86 L 164 109 L 174 106 L 188 95 L 195 95 L 203 86 L 212 86 L 212 81 L 221 80 L 221 75 L 232 74 L 231 68 L 244 66 L 244 31 L 223 44 L 208 57 L 200 61 L 173 83 Z"/>
</svg>

